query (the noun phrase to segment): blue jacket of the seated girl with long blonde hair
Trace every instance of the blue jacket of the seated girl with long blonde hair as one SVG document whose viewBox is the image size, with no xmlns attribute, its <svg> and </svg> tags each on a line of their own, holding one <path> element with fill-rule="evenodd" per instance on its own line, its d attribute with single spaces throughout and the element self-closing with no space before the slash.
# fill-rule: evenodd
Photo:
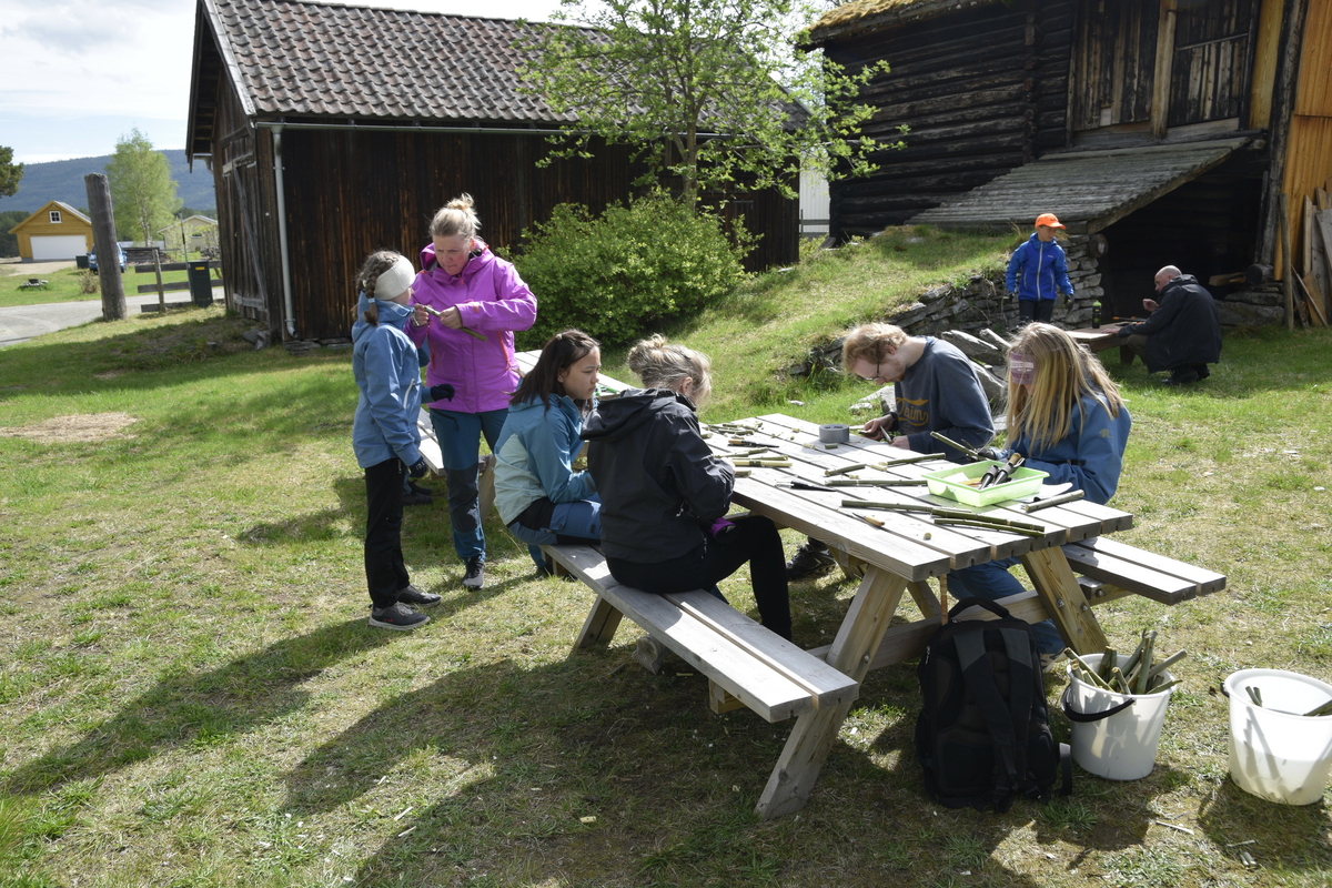
<svg viewBox="0 0 1332 888">
<path fill-rule="evenodd" d="M 1016 450 L 1027 458 L 1027 469 L 1050 473 L 1047 485 L 1070 481 L 1074 489 L 1087 494 L 1087 499 L 1104 505 L 1119 486 L 1124 446 L 1132 425 L 1128 407 L 1120 407 L 1119 415 L 1111 417 L 1104 402 L 1084 397 L 1074 406 L 1068 433 L 1052 446 L 1032 451 L 1031 441 L 1022 435 L 1003 457 Z"/>
</svg>

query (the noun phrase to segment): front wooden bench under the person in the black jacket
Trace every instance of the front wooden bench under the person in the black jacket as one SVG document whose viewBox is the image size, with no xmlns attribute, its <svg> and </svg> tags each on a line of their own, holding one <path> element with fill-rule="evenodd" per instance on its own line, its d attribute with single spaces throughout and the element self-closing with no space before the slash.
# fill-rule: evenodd
<svg viewBox="0 0 1332 888">
<path fill-rule="evenodd" d="M 763 628 L 702 590 L 653 595 L 621 586 L 590 546 L 542 546 L 546 555 L 586 583 L 597 600 L 574 651 L 609 644 L 627 616 L 709 678 L 714 711 L 741 704 L 769 722 L 847 704 L 859 683 L 822 659 Z"/>
</svg>

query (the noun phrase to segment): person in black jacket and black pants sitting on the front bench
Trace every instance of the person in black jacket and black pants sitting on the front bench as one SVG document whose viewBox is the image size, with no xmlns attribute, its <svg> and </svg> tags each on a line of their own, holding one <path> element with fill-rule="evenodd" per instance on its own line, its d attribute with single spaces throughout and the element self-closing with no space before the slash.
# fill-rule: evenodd
<svg viewBox="0 0 1332 888">
<path fill-rule="evenodd" d="M 723 521 L 735 473 L 703 442 L 694 413 L 711 390 L 707 357 L 654 335 L 633 347 L 629 367 L 645 387 L 598 405 L 582 430 L 611 576 L 658 595 L 706 588 L 722 598 L 717 583 L 749 562 L 763 626 L 790 639 L 777 525 Z"/>
</svg>

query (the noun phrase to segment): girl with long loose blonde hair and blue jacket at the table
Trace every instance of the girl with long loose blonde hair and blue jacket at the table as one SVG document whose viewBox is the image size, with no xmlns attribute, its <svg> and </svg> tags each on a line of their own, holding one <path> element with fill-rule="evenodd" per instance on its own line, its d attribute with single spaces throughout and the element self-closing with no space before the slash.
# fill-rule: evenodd
<svg viewBox="0 0 1332 888">
<path fill-rule="evenodd" d="M 1100 361 L 1056 326 L 1028 324 L 1008 351 L 1008 435 L 1028 469 L 1050 473 L 1047 485 L 1072 483 L 1104 503 L 1115 495 L 1132 419 L 1119 387 Z M 1023 591 L 1008 572 L 1016 558 L 1002 558 L 948 574 L 958 598 L 996 600 Z M 1042 659 L 1064 650 L 1050 620 L 1032 626 Z"/>
</svg>

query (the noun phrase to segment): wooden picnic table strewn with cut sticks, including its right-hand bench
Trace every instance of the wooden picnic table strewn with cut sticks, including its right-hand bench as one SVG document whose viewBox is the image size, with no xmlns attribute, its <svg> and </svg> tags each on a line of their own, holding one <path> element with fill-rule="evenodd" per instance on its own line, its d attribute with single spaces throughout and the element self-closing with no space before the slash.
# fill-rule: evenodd
<svg viewBox="0 0 1332 888">
<path fill-rule="evenodd" d="M 714 451 L 727 454 L 770 446 L 773 453 L 789 457 L 791 466 L 753 467 L 749 477 L 737 478 L 733 502 L 767 515 L 779 526 L 829 542 L 840 553 L 848 571 L 863 571 L 832 644 L 809 651 L 856 682 L 863 680 L 871 668 L 920 654 L 940 624 L 940 614 L 947 610 L 944 583 L 935 594 L 928 580 L 942 578 L 955 567 L 1018 556 L 1035 584 L 1035 592 L 1006 599 L 1008 610 L 1027 620 L 1050 616 L 1071 648 L 1088 654 L 1100 652 L 1107 646 L 1106 634 L 1091 610 L 1094 603 L 1128 594 L 1176 603 L 1217 591 L 1225 584 L 1220 574 L 1131 546 L 1110 545 L 1111 541 L 1103 537 L 1130 529 L 1132 515 L 1087 501 L 1031 514 L 1020 511 L 1012 502 L 974 510 L 1038 523 L 1044 531 L 1039 537 L 938 526 L 924 513 L 843 507 L 843 501 L 867 499 L 922 507 L 960 506 L 955 501 L 930 495 L 923 486 L 856 486 L 835 491 L 793 489 L 789 485 L 794 481 L 821 485 L 830 479 L 827 471 L 856 463 L 870 465 L 852 473 L 859 479 L 898 482 L 919 479 L 926 471 L 951 463 L 942 458 L 920 461 L 919 454 L 858 435 L 835 450 L 809 446 L 818 442 L 818 426 L 779 414 L 742 419 L 737 425 L 749 426 L 753 431 L 743 438 L 710 438 Z M 745 443 L 734 445 L 733 441 Z M 846 474 L 838 477 L 844 478 Z M 872 526 L 860 515 L 874 517 L 884 526 Z M 1074 571 L 1075 563 L 1079 572 L 1088 575 L 1079 578 Z M 915 600 L 923 619 L 890 627 L 907 595 Z M 976 618 L 984 616 L 976 614 Z M 848 700 L 798 716 L 759 799 L 758 812 L 762 816 L 775 817 L 805 805 L 850 706 Z"/>
</svg>

